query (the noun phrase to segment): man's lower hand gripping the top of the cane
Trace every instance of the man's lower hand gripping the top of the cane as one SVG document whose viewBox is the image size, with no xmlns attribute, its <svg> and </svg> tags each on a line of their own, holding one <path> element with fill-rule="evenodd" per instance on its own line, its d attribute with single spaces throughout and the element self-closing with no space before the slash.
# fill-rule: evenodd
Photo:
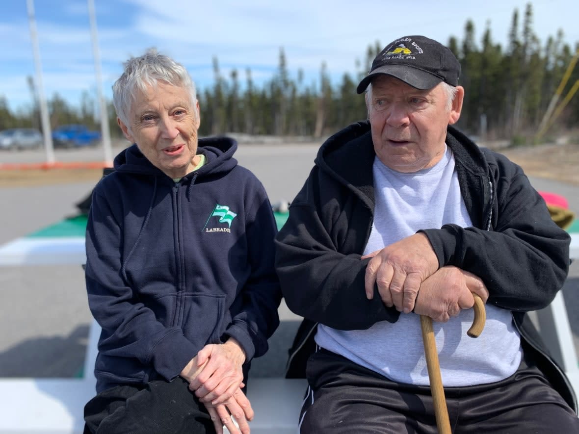
<svg viewBox="0 0 579 434">
<path fill-rule="evenodd" d="M 461 310 L 474 306 L 472 293 L 479 295 L 484 303 L 489 298 L 481 278 L 457 267 L 442 267 L 420 285 L 414 312 L 446 322 Z"/>
</svg>

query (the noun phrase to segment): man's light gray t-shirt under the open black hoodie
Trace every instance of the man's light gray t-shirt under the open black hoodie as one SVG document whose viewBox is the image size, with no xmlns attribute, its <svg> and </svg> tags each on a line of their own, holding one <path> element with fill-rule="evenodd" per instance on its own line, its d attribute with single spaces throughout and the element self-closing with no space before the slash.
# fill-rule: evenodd
<svg viewBox="0 0 579 434">
<path fill-rule="evenodd" d="M 396 172 L 378 158 L 372 170 L 376 207 L 364 254 L 419 229 L 439 228 L 446 223 L 472 225 L 450 148 L 434 167 L 418 172 Z M 446 387 L 500 381 L 511 376 L 521 362 L 521 338 L 510 311 L 486 305 L 485 329 L 477 339 L 467 336 L 473 317 L 469 309 L 446 323 L 433 322 Z M 391 380 L 430 384 L 417 314 L 402 313 L 395 323 L 378 322 L 367 330 L 344 331 L 320 325 L 316 343 Z"/>
</svg>

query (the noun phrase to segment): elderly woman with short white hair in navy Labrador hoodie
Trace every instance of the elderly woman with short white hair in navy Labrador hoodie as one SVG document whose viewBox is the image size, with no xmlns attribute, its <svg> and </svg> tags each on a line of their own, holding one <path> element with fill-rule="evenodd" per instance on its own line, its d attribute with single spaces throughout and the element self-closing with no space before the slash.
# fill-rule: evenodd
<svg viewBox="0 0 579 434">
<path fill-rule="evenodd" d="M 133 145 L 94 189 L 87 225 L 102 333 L 85 433 L 248 433 L 247 371 L 281 300 L 266 192 L 235 141 L 197 139 L 195 85 L 171 58 L 131 58 L 113 100 Z"/>
</svg>

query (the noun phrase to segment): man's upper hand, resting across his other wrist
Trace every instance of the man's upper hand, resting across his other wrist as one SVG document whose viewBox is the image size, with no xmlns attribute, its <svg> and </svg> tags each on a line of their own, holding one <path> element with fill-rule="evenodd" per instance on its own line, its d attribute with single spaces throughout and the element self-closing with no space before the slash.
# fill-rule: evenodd
<svg viewBox="0 0 579 434">
<path fill-rule="evenodd" d="M 411 312 L 420 284 L 438 269 L 438 258 L 423 233 L 394 242 L 379 251 L 362 256 L 372 258 L 365 275 L 366 297 L 374 296 L 374 284 L 387 307 Z"/>
</svg>

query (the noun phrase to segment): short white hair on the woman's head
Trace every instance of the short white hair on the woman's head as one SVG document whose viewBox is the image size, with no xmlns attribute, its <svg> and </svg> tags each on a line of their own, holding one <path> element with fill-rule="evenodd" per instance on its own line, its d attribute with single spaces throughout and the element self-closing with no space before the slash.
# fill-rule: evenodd
<svg viewBox="0 0 579 434">
<path fill-rule="evenodd" d="M 124 71 L 112 86 L 116 115 L 130 128 L 129 113 L 137 91 L 146 92 L 149 86 L 167 83 L 188 91 L 190 102 L 197 104 L 195 83 L 183 65 L 155 49 L 148 49 L 140 57 L 131 57 L 124 63 Z M 199 115 L 199 113 L 197 113 Z"/>
</svg>

